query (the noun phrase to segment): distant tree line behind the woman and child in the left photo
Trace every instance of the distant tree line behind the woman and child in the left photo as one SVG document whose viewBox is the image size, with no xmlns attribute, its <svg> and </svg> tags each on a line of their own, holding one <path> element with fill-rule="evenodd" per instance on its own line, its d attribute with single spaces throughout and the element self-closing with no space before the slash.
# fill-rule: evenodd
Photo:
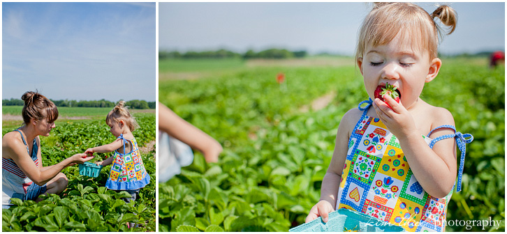
<svg viewBox="0 0 507 234">
<path fill-rule="evenodd" d="M 108 100 L 94 101 L 76 101 L 76 100 L 51 100 L 57 107 L 115 107 L 115 102 Z M 23 100 L 10 98 L 2 100 L 2 106 L 22 106 Z M 126 102 L 126 106 L 131 109 L 155 109 L 156 102 L 146 102 L 145 100 L 131 100 Z"/>
</svg>

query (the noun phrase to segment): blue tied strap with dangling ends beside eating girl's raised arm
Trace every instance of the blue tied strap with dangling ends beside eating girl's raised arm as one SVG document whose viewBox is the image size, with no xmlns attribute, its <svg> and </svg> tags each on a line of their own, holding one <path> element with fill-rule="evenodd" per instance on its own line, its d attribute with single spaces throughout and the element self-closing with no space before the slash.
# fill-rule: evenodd
<svg viewBox="0 0 507 234">
<path fill-rule="evenodd" d="M 435 127 L 431 132 L 429 132 L 429 134 L 427 134 L 427 137 L 429 137 L 429 135 L 431 135 L 435 130 L 439 130 L 441 128 L 450 128 L 450 129 L 454 130 L 455 134 L 447 134 L 447 135 L 443 135 L 440 137 L 436 137 L 435 139 L 433 139 L 429 143 L 429 148 L 433 148 L 433 146 L 435 145 L 436 142 L 441 141 L 443 139 L 448 139 L 448 138 L 455 138 L 456 139 L 457 148 L 460 148 L 460 151 L 461 151 L 460 169 L 458 170 L 458 173 L 457 173 L 457 187 L 456 187 L 456 192 L 460 192 L 461 191 L 461 183 L 462 183 L 461 180 L 462 180 L 462 176 L 463 176 L 466 144 L 471 143 L 473 141 L 473 136 L 472 136 L 472 134 L 469 134 L 469 133 L 462 134 L 461 132 L 456 132 L 456 128 L 453 125 L 441 125 L 439 127 Z"/>
</svg>

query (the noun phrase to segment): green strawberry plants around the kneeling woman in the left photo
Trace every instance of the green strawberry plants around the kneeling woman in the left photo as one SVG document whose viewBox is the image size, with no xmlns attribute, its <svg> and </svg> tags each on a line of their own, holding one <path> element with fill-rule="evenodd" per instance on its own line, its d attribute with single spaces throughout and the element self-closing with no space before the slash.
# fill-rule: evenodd
<svg viewBox="0 0 507 234">
<path fill-rule="evenodd" d="M 84 108 L 86 109 L 86 108 Z M 107 114 L 107 111 L 105 112 Z M 133 132 L 140 147 L 155 140 L 155 114 L 138 113 L 140 128 Z M 50 137 L 41 137 L 43 165 L 61 162 L 87 148 L 101 146 L 115 140 L 105 114 L 87 120 L 66 120 L 60 116 Z M 100 120 L 98 120 L 100 119 Z M 18 121 L 16 127 L 22 121 Z M 3 123 L 2 135 L 15 129 L 13 121 Z M 51 194 L 39 203 L 13 199 L 12 208 L 2 211 L 2 231 L 156 231 L 155 230 L 155 150 L 142 151 L 142 161 L 152 178 L 140 190 L 138 198 L 125 203 L 126 192 L 105 189 L 110 166 L 105 166 L 97 178 L 80 176 L 79 167 L 69 166 L 62 172 L 68 178 L 68 187 L 60 195 Z M 96 162 L 110 154 L 95 154 Z M 126 222 L 138 224 L 127 228 Z"/>
</svg>

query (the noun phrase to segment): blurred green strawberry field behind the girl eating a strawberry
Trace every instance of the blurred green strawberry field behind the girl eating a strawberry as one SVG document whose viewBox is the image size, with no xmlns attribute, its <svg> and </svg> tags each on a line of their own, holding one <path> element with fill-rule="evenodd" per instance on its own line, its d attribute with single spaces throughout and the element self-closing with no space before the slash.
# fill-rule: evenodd
<svg viewBox="0 0 507 234">
<path fill-rule="evenodd" d="M 199 67 L 189 63 L 188 70 L 161 70 L 169 78 L 159 79 L 159 100 L 224 150 L 216 164 L 196 152 L 191 166 L 159 185 L 159 231 L 288 231 L 304 223 L 319 199 L 341 117 L 367 99 L 360 72 L 353 65 L 228 63 L 225 71 L 200 70 L 198 79 L 170 79 Z M 486 59 L 443 59 L 422 94 L 453 113 L 460 132 L 473 134 L 463 190 L 453 194 L 447 219 L 501 220 L 485 231 L 505 229 L 504 79 L 504 67 L 490 70 Z M 307 108 L 326 94 L 334 97 L 326 107 Z"/>
</svg>

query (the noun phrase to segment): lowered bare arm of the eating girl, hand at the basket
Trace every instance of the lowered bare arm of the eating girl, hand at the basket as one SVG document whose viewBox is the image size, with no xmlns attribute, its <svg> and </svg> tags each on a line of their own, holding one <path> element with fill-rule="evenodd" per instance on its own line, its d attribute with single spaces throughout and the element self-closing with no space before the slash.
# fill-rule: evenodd
<svg viewBox="0 0 507 234">
<path fill-rule="evenodd" d="M 358 120 L 359 116 L 360 111 L 352 109 L 341 118 L 337 131 L 335 151 L 332 154 L 328 171 L 322 180 L 321 199 L 311 208 L 305 222 L 318 217 L 322 217 L 323 221 L 327 222 L 329 213 L 335 210 L 339 184 L 341 182 L 341 172 L 343 171 L 348 151 L 348 138 L 355 126 L 354 121 Z"/>
</svg>

